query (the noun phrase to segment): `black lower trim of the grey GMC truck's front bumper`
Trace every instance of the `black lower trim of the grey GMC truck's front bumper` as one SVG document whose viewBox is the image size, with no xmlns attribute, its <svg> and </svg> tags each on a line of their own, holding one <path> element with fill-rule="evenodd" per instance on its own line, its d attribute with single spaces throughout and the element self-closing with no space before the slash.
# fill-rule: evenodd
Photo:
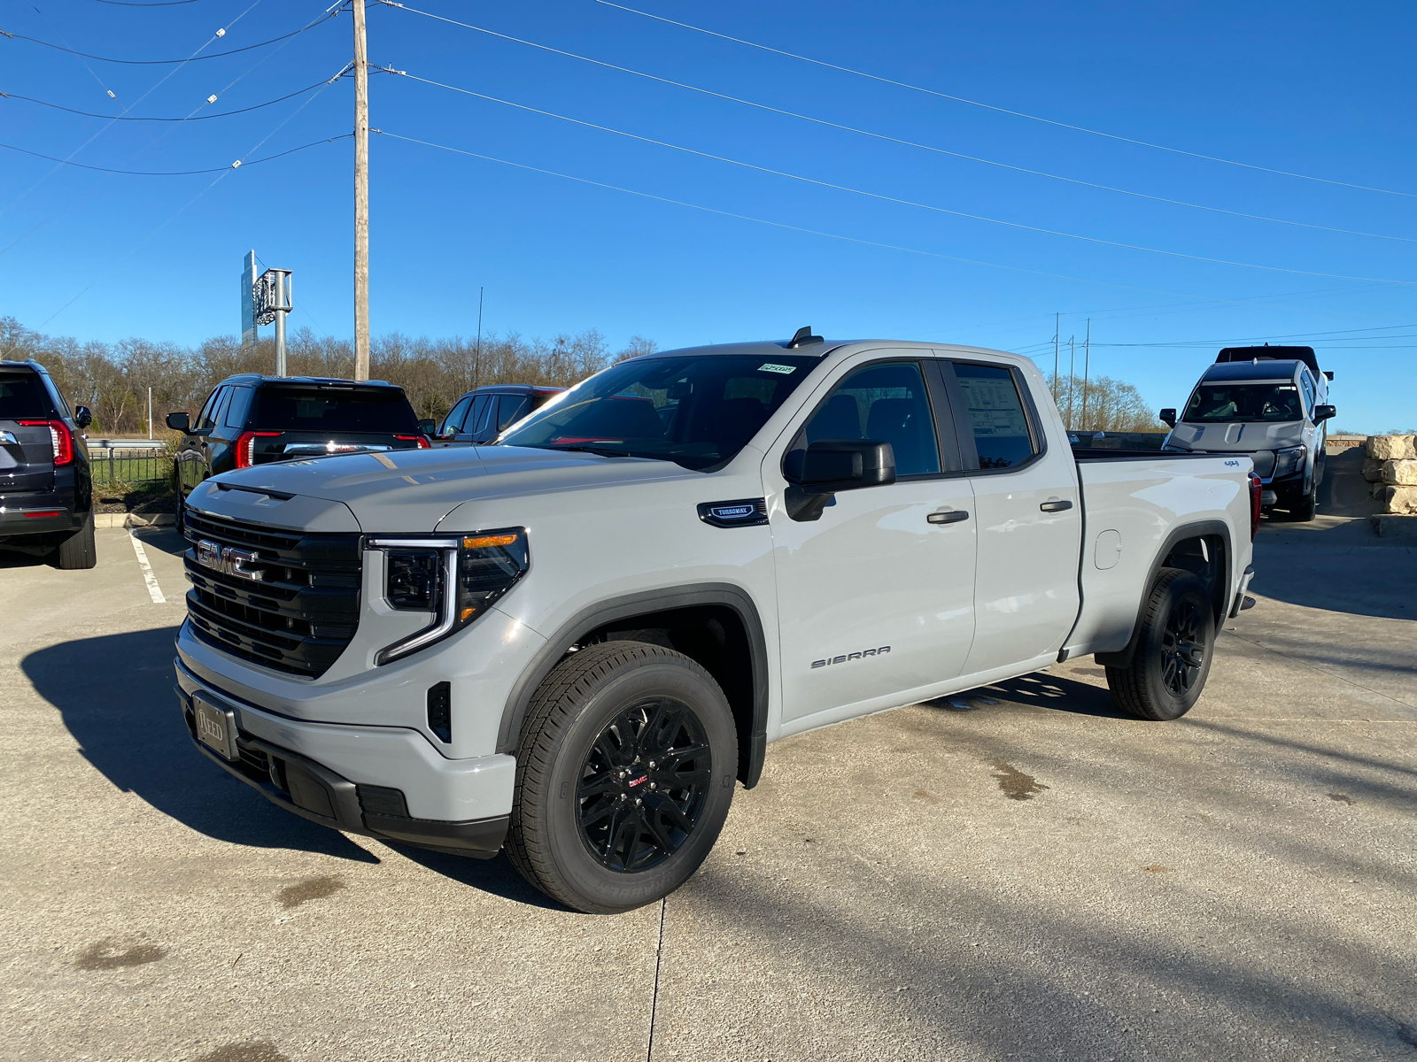
<svg viewBox="0 0 1417 1062">
<path fill-rule="evenodd" d="M 286 811 L 332 830 L 373 837 L 380 841 L 414 844 L 441 852 L 470 855 L 479 860 L 490 860 L 502 851 L 502 843 L 507 835 L 507 816 L 449 823 L 439 818 L 368 814 L 360 806 L 356 784 L 349 779 L 336 775 L 307 756 L 249 736 L 238 739 L 242 759 L 231 762 L 197 741 L 196 722 L 180 687 L 177 687 L 177 697 L 183 707 L 188 736 L 197 750 Z M 262 769 L 256 766 L 262 756 L 268 765 L 265 776 L 262 776 Z M 278 780 L 282 784 L 278 784 Z"/>
</svg>

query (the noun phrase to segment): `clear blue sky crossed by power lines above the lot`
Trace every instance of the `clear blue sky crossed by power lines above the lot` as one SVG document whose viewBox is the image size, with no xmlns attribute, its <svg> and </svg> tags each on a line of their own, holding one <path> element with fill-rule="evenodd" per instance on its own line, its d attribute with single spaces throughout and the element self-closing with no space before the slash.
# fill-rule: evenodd
<svg viewBox="0 0 1417 1062">
<path fill-rule="evenodd" d="M 676 347 L 812 324 L 829 337 L 1020 350 L 1051 368 L 1058 312 L 1064 343 L 1081 343 L 1091 317 L 1094 372 L 1136 384 L 1156 406 L 1179 405 L 1224 343 L 1311 343 L 1336 372 L 1339 426 L 1417 426 L 1410 6 L 631 6 L 937 93 L 1335 183 L 973 106 L 597 0 L 411 7 L 762 106 L 371 4 L 374 64 L 808 178 L 377 74 L 371 123 L 387 135 L 371 143 L 376 333 L 470 336 L 486 287 L 485 329 L 497 333 L 597 327 L 614 346 L 639 334 Z M 0 8 L 0 28 L 95 55 L 183 58 L 208 41 L 204 52 L 258 44 L 323 10 L 307 0 L 146 10 L 37 0 Z M 218 27 L 227 33 L 211 40 Z M 0 38 L 0 91 L 103 115 L 201 116 L 334 75 L 350 31 L 346 13 L 183 67 Z M 181 123 L 109 125 L 13 98 L 0 99 L 0 142 L 30 152 L 197 170 L 347 133 L 353 82 Z M 235 333 L 241 256 L 255 248 L 265 265 L 295 270 L 292 327 L 349 336 L 351 164 L 347 139 L 187 177 L 51 173 L 54 163 L 0 149 L 0 313 L 85 340 Z"/>
</svg>

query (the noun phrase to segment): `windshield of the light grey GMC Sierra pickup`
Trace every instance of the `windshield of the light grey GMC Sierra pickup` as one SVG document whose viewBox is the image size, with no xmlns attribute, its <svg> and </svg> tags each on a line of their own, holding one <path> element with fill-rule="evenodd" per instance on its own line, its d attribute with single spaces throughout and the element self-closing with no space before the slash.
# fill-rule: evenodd
<svg viewBox="0 0 1417 1062">
<path fill-rule="evenodd" d="M 497 438 L 708 469 L 733 457 L 819 358 L 636 358 L 598 372 Z"/>
</svg>

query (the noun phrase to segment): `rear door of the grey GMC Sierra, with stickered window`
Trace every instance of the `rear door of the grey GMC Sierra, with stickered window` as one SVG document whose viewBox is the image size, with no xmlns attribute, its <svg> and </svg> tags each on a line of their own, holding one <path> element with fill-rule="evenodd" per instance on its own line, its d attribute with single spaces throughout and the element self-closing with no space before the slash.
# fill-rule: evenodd
<svg viewBox="0 0 1417 1062">
<path fill-rule="evenodd" d="M 1054 654 L 1077 619 L 1081 494 L 1073 452 L 1047 439 L 1023 372 L 939 362 L 973 489 L 979 559 L 965 674 Z"/>
</svg>

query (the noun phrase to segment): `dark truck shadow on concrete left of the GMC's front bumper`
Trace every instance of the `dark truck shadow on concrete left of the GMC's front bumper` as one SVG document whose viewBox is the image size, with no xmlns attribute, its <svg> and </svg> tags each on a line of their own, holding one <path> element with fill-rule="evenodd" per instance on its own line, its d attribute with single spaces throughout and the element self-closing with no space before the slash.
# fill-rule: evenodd
<svg viewBox="0 0 1417 1062">
<path fill-rule="evenodd" d="M 378 862 L 344 834 L 271 804 L 191 746 L 173 694 L 176 627 L 79 639 L 21 661 L 109 782 L 218 841 Z"/>
</svg>

